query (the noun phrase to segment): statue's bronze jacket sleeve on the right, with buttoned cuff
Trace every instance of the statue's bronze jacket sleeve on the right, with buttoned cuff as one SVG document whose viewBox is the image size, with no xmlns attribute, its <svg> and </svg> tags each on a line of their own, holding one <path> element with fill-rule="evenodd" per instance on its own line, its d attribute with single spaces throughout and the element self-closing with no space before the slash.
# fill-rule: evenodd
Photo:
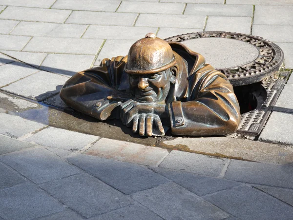
<svg viewBox="0 0 293 220">
<path fill-rule="evenodd" d="M 223 135 L 238 128 L 240 109 L 233 87 L 224 74 L 209 67 L 198 71 L 202 76 L 191 85 L 187 102 L 169 104 L 172 134 Z"/>
</svg>

